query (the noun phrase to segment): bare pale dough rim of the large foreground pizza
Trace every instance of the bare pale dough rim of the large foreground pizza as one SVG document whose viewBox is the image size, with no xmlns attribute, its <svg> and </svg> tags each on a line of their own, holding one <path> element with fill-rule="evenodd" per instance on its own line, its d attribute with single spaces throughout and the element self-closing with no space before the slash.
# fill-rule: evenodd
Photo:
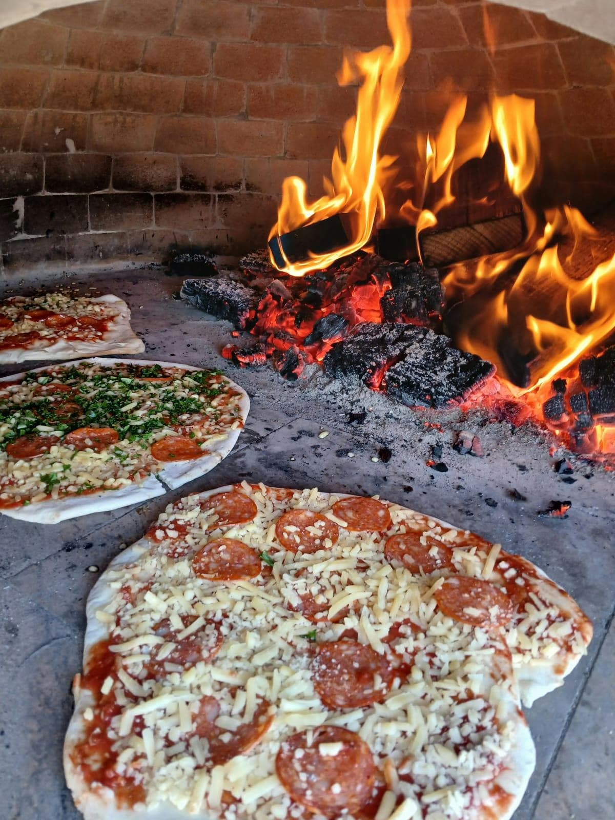
<svg viewBox="0 0 615 820">
<path fill-rule="evenodd" d="M 236 489 L 238 489 L 237 485 L 217 487 L 214 490 L 208 490 L 207 492 L 198 494 L 198 499 L 204 500 L 211 495 Z M 353 497 L 345 494 L 321 493 L 320 495 L 321 497 L 335 495 L 336 500 Z M 444 522 L 440 523 L 444 524 Z M 450 528 L 449 525 L 444 526 Z M 89 649 L 96 645 L 98 641 L 106 640 L 109 636 L 107 626 L 96 617 L 97 611 L 105 608 L 116 596 L 116 589 L 107 581 L 107 574 L 121 569 L 124 564 L 138 562 L 139 557 L 150 549 L 151 545 L 152 542 L 145 537 L 135 544 L 132 544 L 128 549 L 125 549 L 117 555 L 116 558 L 113 558 L 105 572 L 103 572 L 103 575 L 99 577 L 93 586 L 86 605 L 87 627 L 84 638 L 84 663 L 88 657 Z M 503 676 L 509 677 L 512 684 L 512 692 L 517 692 L 517 686 L 515 686 L 516 676 L 512 671 L 512 667 L 508 661 L 502 661 L 501 663 L 506 667 Z M 554 686 L 559 685 L 558 683 L 552 684 L 553 681 L 549 681 L 549 687 L 544 688 L 542 694 L 544 694 L 545 691 L 553 689 Z M 118 809 L 116 808 L 111 790 L 100 789 L 95 792 L 90 791 L 80 774 L 79 768 L 75 767 L 71 760 L 71 751 L 84 735 L 86 725 L 84 712 L 86 708 L 93 706 L 94 701 L 92 693 L 80 687 L 79 675 L 75 676 L 73 693 L 75 695 L 75 712 L 66 731 L 64 768 L 67 785 L 74 796 L 75 804 L 84 814 L 85 820 L 137 820 L 137 818 L 141 817 L 146 818 L 146 820 L 188 820 L 188 818 L 197 818 L 197 820 L 219 820 L 219 815 L 217 814 L 212 814 L 207 811 L 190 812 L 188 809 L 180 810 L 170 803 L 158 804 L 152 809 L 147 809 L 144 806 L 135 807 L 134 809 Z M 489 699 L 489 697 L 490 686 L 485 679 L 485 698 Z M 504 793 L 502 795 L 503 804 L 500 804 L 499 807 L 490 806 L 481 809 L 480 813 L 476 813 L 475 815 L 476 820 L 510 820 L 522 801 L 531 774 L 535 768 L 534 741 L 532 740 L 526 719 L 518 708 L 518 700 L 512 696 L 511 691 L 504 693 L 500 708 L 500 717 L 502 720 L 508 720 L 515 726 L 515 740 L 512 748 L 508 752 L 509 766 L 501 772 L 494 781 Z M 499 813 L 494 813 L 498 808 Z M 315 815 L 315 818 L 321 818 L 321 815 Z"/>
</svg>

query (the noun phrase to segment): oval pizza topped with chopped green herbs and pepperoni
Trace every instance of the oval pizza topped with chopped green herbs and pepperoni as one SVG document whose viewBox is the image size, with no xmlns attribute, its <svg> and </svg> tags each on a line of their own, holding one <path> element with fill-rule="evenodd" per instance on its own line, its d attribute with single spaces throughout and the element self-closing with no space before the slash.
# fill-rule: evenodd
<svg viewBox="0 0 615 820">
<path fill-rule="evenodd" d="M 0 380 L 0 512 L 48 523 L 153 498 L 224 458 L 248 407 L 221 371 L 157 362 Z"/>
</svg>

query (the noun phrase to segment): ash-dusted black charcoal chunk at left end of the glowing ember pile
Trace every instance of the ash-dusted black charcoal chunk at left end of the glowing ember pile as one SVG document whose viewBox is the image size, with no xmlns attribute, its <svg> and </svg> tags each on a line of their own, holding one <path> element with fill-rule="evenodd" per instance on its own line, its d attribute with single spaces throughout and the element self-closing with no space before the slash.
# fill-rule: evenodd
<svg viewBox="0 0 615 820">
<path fill-rule="evenodd" d="M 250 312 L 256 310 L 259 296 L 240 282 L 217 276 L 214 279 L 187 279 L 181 286 L 181 298 L 211 313 L 217 319 L 231 321 L 236 328 L 246 326 Z"/>
</svg>

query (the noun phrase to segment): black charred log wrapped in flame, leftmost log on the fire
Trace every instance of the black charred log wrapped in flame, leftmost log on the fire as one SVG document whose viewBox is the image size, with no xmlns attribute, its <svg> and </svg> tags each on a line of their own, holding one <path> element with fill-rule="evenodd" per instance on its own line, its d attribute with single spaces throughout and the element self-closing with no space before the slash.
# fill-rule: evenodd
<svg viewBox="0 0 615 820">
<path fill-rule="evenodd" d="M 312 257 L 325 256 L 348 245 L 344 214 L 335 214 L 312 225 L 303 225 L 288 234 L 276 235 L 269 241 L 271 254 L 280 268 L 307 262 Z"/>
</svg>

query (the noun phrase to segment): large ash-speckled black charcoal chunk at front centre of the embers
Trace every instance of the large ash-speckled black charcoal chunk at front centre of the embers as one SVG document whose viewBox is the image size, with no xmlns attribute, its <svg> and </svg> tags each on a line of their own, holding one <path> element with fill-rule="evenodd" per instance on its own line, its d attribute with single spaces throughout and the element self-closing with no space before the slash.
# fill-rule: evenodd
<svg viewBox="0 0 615 820">
<path fill-rule="evenodd" d="M 495 372 L 490 362 L 453 348 L 447 336 L 404 325 L 406 344 L 382 388 L 408 407 L 444 408 L 467 399 Z"/>
</svg>

